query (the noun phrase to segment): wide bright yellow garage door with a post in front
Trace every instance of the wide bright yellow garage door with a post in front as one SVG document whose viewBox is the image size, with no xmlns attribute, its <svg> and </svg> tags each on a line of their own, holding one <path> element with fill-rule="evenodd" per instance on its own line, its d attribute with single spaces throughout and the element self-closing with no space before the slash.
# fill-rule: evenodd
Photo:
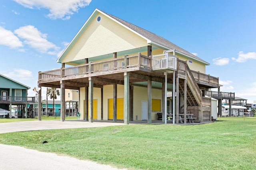
<svg viewBox="0 0 256 170">
<path fill-rule="evenodd" d="M 117 115 L 116 119 L 124 119 L 124 98 L 117 99 Z M 113 99 L 108 99 L 108 119 L 113 120 Z"/>
</svg>

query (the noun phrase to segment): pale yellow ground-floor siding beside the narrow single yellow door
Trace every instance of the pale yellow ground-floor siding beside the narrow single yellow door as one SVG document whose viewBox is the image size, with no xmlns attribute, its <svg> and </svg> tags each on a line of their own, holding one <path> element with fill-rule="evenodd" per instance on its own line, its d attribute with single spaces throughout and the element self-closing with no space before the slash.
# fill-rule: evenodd
<svg viewBox="0 0 256 170">
<path fill-rule="evenodd" d="M 85 88 L 80 88 L 80 113 L 81 119 L 85 119 L 85 112 L 84 112 L 84 90 Z M 94 110 L 96 110 L 97 117 L 95 119 L 101 120 L 101 89 L 100 88 L 93 88 L 93 99 L 96 100 L 96 106 L 93 106 Z M 95 108 L 96 107 L 96 108 Z M 94 119 L 94 117 L 93 117 Z"/>
</svg>

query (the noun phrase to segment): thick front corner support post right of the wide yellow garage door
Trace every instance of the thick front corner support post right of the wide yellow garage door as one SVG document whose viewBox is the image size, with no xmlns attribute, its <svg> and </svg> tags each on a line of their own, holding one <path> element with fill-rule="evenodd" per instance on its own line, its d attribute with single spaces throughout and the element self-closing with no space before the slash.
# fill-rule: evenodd
<svg viewBox="0 0 256 170">
<path fill-rule="evenodd" d="M 124 124 L 129 124 L 129 74 L 124 72 Z"/>
</svg>

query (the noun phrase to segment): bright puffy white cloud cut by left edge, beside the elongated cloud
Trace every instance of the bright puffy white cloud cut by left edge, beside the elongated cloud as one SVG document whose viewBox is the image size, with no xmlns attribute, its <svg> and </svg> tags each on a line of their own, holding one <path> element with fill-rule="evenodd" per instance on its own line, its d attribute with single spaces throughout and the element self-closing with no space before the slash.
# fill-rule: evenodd
<svg viewBox="0 0 256 170">
<path fill-rule="evenodd" d="M 23 46 L 22 42 L 12 31 L 4 29 L 3 27 L 0 27 L 0 45 L 6 45 L 12 49 Z"/>
</svg>

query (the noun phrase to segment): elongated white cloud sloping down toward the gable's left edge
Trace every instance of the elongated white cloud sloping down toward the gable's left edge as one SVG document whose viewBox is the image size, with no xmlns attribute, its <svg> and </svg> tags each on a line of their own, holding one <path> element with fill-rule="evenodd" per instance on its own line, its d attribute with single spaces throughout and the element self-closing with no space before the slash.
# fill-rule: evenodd
<svg viewBox="0 0 256 170">
<path fill-rule="evenodd" d="M 46 39 L 47 34 L 41 33 L 33 25 L 20 27 L 19 29 L 14 30 L 14 33 L 17 34 L 18 37 L 24 39 L 25 44 L 29 45 L 40 53 L 55 55 L 60 49 L 54 43 L 51 43 Z"/>
</svg>

